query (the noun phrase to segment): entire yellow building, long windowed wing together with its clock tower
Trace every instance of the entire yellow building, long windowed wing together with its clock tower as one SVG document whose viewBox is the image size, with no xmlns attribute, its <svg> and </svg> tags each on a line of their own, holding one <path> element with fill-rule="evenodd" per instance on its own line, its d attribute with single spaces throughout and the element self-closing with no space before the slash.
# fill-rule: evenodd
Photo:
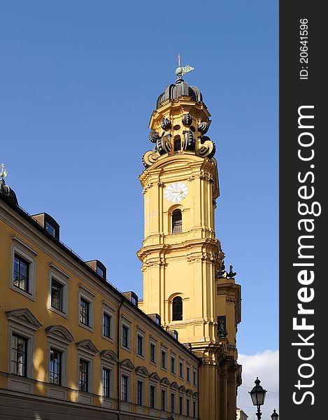
<svg viewBox="0 0 328 420">
<path fill-rule="evenodd" d="M 64 246 L 50 215 L 21 209 L 2 170 L 3 418 L 236 419 L 241 291 L 215 238 L 210 114 L 181 73 L 157 99 L 143 156 L 143 300 Z"/>
</svg>

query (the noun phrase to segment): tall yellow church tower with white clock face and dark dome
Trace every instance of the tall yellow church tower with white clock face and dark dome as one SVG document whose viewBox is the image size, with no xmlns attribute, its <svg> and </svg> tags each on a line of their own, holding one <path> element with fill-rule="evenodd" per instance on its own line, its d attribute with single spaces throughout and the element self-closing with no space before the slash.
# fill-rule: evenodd
<svg viewBox="0 0 328 420">
<path fill-rule="evenodd" d="M 210 113 L 200 90 L 182 78 L 157 99 L 150 118 L 152 151 L 143 155 L 145 221 L 143 302 L 162 327 L 202 360 L 199 418 L 235 420 L 236 389 L 241 384 L 236 330 L 241 321 L 241 288 L 236 273 L 224 268 L 215 237 L 219 197 L 215 144 L 206 135 Z"/>
</svg>

